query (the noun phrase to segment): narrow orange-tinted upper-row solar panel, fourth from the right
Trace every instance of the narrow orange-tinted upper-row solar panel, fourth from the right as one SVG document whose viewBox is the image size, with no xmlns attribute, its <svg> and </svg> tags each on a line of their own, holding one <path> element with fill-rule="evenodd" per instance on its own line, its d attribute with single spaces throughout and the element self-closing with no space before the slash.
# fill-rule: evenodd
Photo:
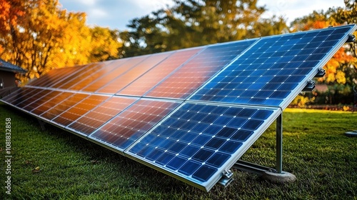
<svg viewBox="0 0 357 200">
<path fill-rule="evenodd" d="M 104 86 L 104 88 L 100 89 L 99 92 L 115 94 L 119 90 L 124 89 L 125 86 L 130 84 L 135 79 L 138 79 L 146 71 L 153 68 L 154 66 L 159 64 L 164 59 L 166 59 L 166 57 L 169 56 L 170 54 L 172 54 L 172 52 L 154 54 L 152 56 L 149 56 L 148 59 L 145 59 L 144 61 L 142 61 L 140 64 L 135 66 L 133 69 L 126 72 L 126 74 L 119 76 L 114 81 L 111 81 L 109 84 Z"/>
</svg>

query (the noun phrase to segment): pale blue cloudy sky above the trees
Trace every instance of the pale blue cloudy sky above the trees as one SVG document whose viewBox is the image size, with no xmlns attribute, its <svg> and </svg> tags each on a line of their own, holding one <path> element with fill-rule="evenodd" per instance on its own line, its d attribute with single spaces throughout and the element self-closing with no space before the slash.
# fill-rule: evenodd
<svg viewBox="0 0 357 200">
<path fill-rule="evenodd" d="M 151 11 L 172 5 L 171 0 L 59 0 L 62 9 L 86 12 L 90 26 L 109 27 L 123 31 L 131 19 L 150 14 Z M 258 0 L 266 6 L 264 17 L 283 16 L 290 24 L 294 19 L 330 7 L 343 7 L 343 0 Z"/>
</svg>

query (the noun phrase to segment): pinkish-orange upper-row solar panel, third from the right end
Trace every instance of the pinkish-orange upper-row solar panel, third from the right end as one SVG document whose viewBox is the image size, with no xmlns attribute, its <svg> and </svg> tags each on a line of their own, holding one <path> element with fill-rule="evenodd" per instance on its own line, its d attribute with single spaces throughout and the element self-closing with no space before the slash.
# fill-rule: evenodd
<svg viewBox="0 0 357 200">
<path fill-rule="evenodd" d="M 194 56 L 201 49 L 202 48 L 176 51 L 174 54 L 169 56 L 169 58 L 155 66 L 154 69 L 151 69 L 139 79 L 136 79 L 133 83 L 129 84 L 129 86 L 119 91 L 117 94 L 143 96 L 153 86 L 165 79 L 165 77 L 171 74 L 172 71 L 178 69 L 178 67 L 180 67 L 185 61 Z"/>
</svg>

